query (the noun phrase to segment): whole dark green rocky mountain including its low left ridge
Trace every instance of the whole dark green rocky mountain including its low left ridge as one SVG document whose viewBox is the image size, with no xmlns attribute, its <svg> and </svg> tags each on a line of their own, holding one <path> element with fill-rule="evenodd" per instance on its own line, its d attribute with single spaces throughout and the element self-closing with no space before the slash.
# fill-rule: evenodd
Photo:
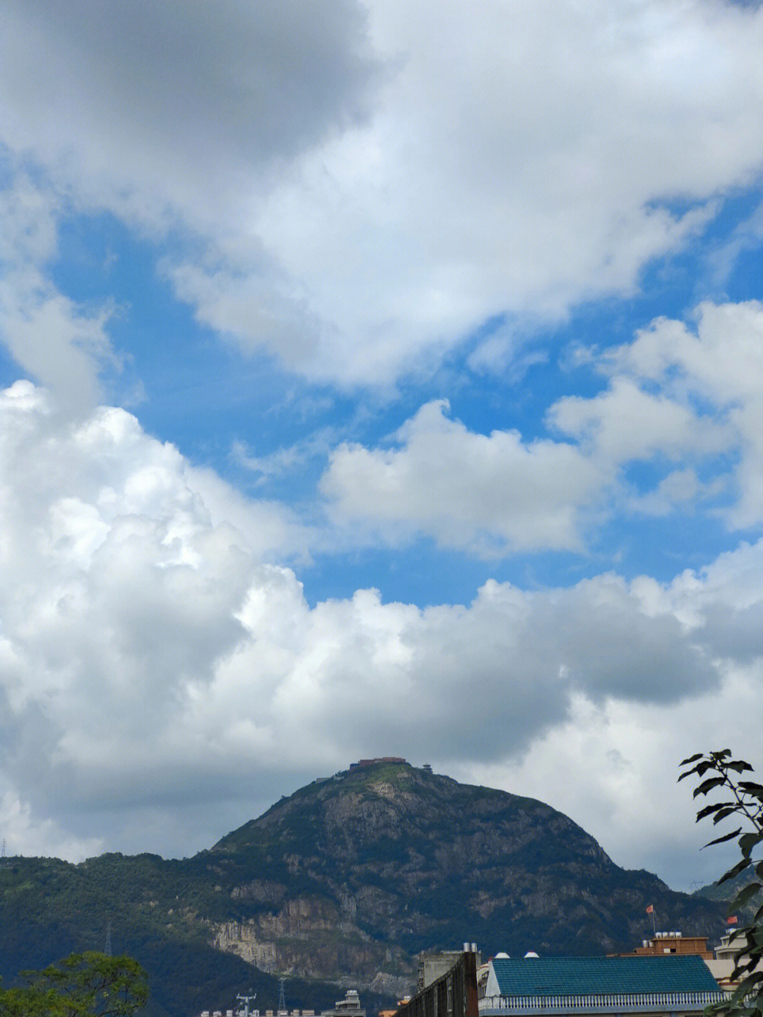
<svg viewBox="0 0 763 1017">
<path fill-rule="evenodd" d="M 541 801 L 401 762 L 314 781 L 192 858 L 12 859 L 0 894 L 3 976 L 103 948 L 111 922 L 115 951 L 149 970 L 157 1017 L 225 1009 L 255 981 L 274 1006 L 262 968 L 289 976 L 290 1007 L 338 999 L 326 980 L 373 1007 L 410 985 L 423 949 L 614 952 L 648 935 L 648 904 L 685 935 L 717 937 L 725 918 L 619 868 Z"/>
</svg>

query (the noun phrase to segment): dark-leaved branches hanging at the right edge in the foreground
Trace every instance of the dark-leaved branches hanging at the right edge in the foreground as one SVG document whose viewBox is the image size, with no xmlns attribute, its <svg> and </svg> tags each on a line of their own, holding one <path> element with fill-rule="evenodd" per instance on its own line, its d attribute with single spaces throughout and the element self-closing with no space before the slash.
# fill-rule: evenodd
<svg viewBox="0 0 763 1017">
<path fill-rule="evenodd" d="M 741 884 L 728 905 L 729 911 L 743 908 L 749 911 L 751 904 L 760 903 L 760 891 L 763 890 L 763 860 L 755 856 L 756 849 L 763 843 L 763 785 L 743 779 L 743 775 L 752 773 L 753 768 L 744 760 L 733 759 L 728 749 L 690 756 L 683 760 L 681 767 L 683 772 L 679 780 L 693 775 L 700 778 L 694 789 L 695 798 L 710 792 L 723 795 L 722 800 L 700 809 L 697 822 L 710 817 L 716 826 L 729 817 L 741 822 L 736 830 L 714 837 L 704 846 L 739 838 L 742 857 L 720 877 L 718 885 L 729 880 L 734 880 L 735 885 Z M 743 873 L 747 878 L 742 878 Z M 734 980 L 741 978 L 740 984 L 727 1001 L 708 1009 L 728 1017 L 763 1017 L 763 970 L 755 970 L 763 961 L 763 904 L 746 923 L 732 933 L 729 943 L 735 940 L 739 941 L 739 951 L 732 977 Z"/>
</svg>

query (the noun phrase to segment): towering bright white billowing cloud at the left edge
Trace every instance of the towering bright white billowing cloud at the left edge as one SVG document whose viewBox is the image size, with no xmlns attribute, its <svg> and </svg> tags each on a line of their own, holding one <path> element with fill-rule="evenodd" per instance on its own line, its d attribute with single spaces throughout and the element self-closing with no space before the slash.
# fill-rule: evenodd
<svg viewBox="0 0 763 1017">
<path fill-rule="evenodd" d="M 103 803 L 115 747 L 124 774 L 172 737 L 183 690 L 244 636 L 259 555 L 298 546 L 299 527 L 244 505 L 122 410 L 61 427 L 46 394 L 16 382 L 0 415 L 3 763 L 44 796 L 79 767 L 70 802 Z"/>
</svg>

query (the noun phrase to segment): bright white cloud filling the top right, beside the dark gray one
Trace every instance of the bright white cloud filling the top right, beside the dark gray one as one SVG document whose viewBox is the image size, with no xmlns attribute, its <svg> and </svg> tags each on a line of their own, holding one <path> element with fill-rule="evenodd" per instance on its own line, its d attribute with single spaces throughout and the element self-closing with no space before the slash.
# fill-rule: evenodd
<svg viewBox="0 0 763 1017">
<path fill-rule="evenodd" d="M 257 218 L 324 323 L 295 362 L 312 376 L 389 381 L 491 316 L 629 292 L 763 161 L 755 12 L 379 3 L 372 26 L 400 55 L 373 120 L 306 157 Z"/>
</svg>

